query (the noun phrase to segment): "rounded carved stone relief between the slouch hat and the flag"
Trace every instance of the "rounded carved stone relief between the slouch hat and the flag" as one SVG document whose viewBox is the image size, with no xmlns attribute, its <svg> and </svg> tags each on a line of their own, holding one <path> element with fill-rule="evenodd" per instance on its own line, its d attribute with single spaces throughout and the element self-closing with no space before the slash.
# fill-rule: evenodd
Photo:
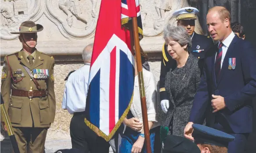
<svg viewBox="0 0 256 153">
<path fill-rule="evenodd" d="M 98 0 L 46 0 L 46 12 L 58 21 L 60 31 L 85 38 L 96 28 L 99 4 Z"/>
</svg>

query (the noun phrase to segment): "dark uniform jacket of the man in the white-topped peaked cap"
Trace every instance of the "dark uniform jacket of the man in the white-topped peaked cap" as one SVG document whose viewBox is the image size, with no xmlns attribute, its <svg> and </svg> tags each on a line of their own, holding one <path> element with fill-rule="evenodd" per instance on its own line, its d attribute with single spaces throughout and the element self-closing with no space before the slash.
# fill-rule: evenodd
<svg viewBox="0 0 256 153">
<path fill-rule="evenodd" d="M 199 59 L 198 65 L 199 65 L 199 68 L 202 70 L 203 59 L 205 58 L 206 52 L 208 52 L 209 48 L 214 45 L 213 40 L 212 38 L 206 37 L 205 35 L 198 35 L 197 33 L 194 33 L 194 36 L 191 41 L 192 41 L 192 46 L 188 50 L 191 52 L 193 56 Z M 172 57 L 167 52 L 166 45 L 163 46 L 162 50 L 163 50 L 163 54 L 162 54 L 161 72 L 160 72 L 160 80 L 159 80 L 160 101 L 164 99 L 168 100 L 168 95 L 165 91 L 165 77 L 166 77 L 166 73 L 169 72 L 170 69 L 174 69 L 176 67 L 176 61 L 172 59 Z M 202 50 L 202 51 L 196 52 L 197 50 Z"/>
</svg>

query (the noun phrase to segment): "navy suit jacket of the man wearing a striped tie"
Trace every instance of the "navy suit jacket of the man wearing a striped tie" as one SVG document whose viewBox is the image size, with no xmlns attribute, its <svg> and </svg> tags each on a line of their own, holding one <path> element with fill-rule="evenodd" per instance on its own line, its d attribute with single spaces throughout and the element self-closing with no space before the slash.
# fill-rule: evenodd
<svg viewBox="0 0 256 153">
<path fill-rule="evenodd" d="M 205 58 L 189 121 L 202 124 L 206 118 L 206 125 L 213 126 L 216 119 L 224 126 L 224 130 L 231 128 L 234 133 L 252 132 L 252 98 L 256 97 L 256 49 L 249 42 L 235 36 L 227 49 L 216 84 L 214 64 L 217 45 Z M 229 58 L 236 58 L 234 70 L 228 69 Z M 212 113 L 212 94 L 224 97 L 227 107 Z"/>
</svg>

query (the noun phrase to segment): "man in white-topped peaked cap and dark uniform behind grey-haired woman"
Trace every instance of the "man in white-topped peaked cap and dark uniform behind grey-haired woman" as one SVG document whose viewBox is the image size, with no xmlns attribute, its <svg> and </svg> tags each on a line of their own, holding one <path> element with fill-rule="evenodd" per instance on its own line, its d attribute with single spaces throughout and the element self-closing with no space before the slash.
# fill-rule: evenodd
<svg viewBox="0 0 256 153">
<path fill-rule="evenodd" d="M 198 35 L 195 33 L 195 20 L 198 13 L 199 11 L 195 7 L 184 7 L 173 12 L 173 16 L 177 18 L 177 26 L 183 26 L 190 35 L 192 46 L 188 49 L 188 51 L 199 59 L 198 64 L 202 69 L 205 54 L 207 50 L 214 44 L 213 40 L 209 36 L 206 37 L 204 35 Z M 176 61 L 172 59 L 167 52 L 166 45 L 163 45 L 159 87 L 161 107 L 162 111 L 165 113 L 169 108 L 169 98 L 165 90 L 165 77 L 170 68 L 175 67 Z"/>
</svg>

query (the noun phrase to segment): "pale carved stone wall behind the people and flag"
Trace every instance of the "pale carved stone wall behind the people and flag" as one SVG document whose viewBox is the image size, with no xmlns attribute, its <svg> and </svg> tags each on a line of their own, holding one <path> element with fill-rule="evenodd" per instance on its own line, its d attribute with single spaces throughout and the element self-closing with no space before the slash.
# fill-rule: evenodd
<svg viewBox="0 0 256 153">
<path fill-rule="evenodd" d="M 55 121 L 49 129 L 47 139 L 65 139 L 69 137 L 72 115 L 61 109 L 64 79 L 71 70 L 83 65 L 79 54 L 87 44 L 94 42 L 101 0 L 0 0 L 0 2 L 1 65 L 5 55 L 22 48 L 18 35 L 12 35 L 10 32 L 18 31 L 23 21 L 34 21 L 44 27 L 43 31 L 38 33 L 36 48 L 55 58 L 57 100 Z M 173 11 L 187 7 L 188 3 L 187 0 L 140 0 L 140 5 L 144 31 L 144 38 L 140 43 L 150 56 L 151 71 L 158 81 L 163 26 L 167 23 L 176 25 L 172 16 Z M 202 34 L 198 20 L 195 31 Z"/>
</svg>

